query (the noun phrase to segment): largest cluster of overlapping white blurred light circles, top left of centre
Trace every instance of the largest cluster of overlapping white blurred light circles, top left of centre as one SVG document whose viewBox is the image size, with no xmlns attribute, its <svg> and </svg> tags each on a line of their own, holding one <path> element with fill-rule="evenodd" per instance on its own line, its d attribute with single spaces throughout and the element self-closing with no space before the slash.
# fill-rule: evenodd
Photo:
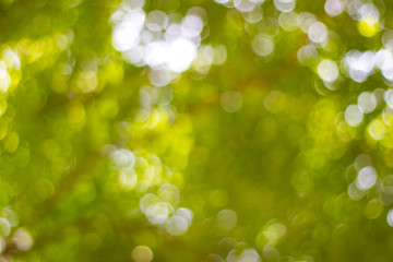
<svg viewBox="0 0 393 262">
<path fill-rule="evenodd" d="M 180 24 L 169 24 L 169 17 L 162 11 L 152 11 L 146 16 L 143 5 L 144 1 L 130 0 L 115 11 L 110 19 L 112 46 L 121 51 L 124 61 L 148 66 L 151 83 L 165 86 L 177 76 L 174 73 L 188 70 L 195 59 L 206 12 L 194 7 Z M 206 67 L 201 71 L 207 72 Z"/>
</svg>

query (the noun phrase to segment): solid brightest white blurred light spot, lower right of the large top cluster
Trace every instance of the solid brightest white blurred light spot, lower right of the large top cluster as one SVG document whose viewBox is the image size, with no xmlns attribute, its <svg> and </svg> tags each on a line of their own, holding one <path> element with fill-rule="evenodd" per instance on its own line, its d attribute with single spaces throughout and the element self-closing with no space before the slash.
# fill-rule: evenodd
<svg viewBox="0 0 393 262">
<path fill-rule="evenodd" d="M 167 64 L 170 71 L 188 70 L 196 57 L 196 46 L 188 38 L 177 38 L 169 44 Z"/>
</svg>

